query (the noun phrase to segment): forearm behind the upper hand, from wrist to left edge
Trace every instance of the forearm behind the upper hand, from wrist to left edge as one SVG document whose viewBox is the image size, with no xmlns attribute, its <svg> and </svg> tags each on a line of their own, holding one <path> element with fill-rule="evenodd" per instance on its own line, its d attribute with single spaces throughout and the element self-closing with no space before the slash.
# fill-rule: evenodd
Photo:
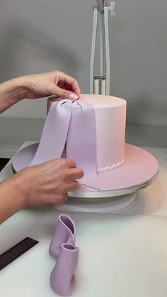
<svg viewBox="0 0 167 297">
<path fill-rule="evenodd" d="M 25 98 L 25 78 L 19 77 L 0 84 L 0 113 Z"/>
</svg>

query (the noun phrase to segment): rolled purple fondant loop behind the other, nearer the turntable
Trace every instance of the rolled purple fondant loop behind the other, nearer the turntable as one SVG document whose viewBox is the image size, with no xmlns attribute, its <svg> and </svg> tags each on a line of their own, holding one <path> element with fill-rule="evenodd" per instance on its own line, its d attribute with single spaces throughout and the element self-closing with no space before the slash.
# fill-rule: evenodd
<svg viewBox="0 0 167 297">
<path fill-rule="evenodd" d="M 75 245 L 76 227 L 73 220 L 68 215 L 59 215 L 56 230 L 50 243 L 50 255 L 58 257 L 62 243 Z"/>
</svg>

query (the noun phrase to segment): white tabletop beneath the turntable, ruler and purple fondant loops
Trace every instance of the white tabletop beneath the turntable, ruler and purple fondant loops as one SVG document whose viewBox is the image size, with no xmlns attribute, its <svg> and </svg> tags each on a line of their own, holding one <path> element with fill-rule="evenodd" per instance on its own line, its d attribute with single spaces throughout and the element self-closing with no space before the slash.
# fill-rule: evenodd
<svg viewBox="0 0 167 297">
<path fill-rule="evenodd" d="M 159 177 L 130 215 L 68 213 L 80 247 L 74 297 L 167 296 L 167 149 L 146 150 L 159 161 Z M 11 174 L 9 162 L 0 178 Z M 0 271 L 0 296 L 57 296 L 48 247 L 58 216 L 50 207 L 26 209 L 1 225 L 0 254 L 27 236 L 40 243 Z"/>
</svg>

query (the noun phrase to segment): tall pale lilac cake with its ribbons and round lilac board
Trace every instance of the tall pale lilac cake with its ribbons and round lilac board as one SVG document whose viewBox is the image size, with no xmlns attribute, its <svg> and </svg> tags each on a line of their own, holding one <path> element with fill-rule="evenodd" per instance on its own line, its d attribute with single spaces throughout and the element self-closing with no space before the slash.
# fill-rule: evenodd
<svg viewBox="0 0 167 297">
<path fill-rule="evenodd" d="M 13 157 L 15 172 L 60 157 L 84 169 L 79 191 L 117 191 L 151 184 L 159 164 L 149 152 L 125 143 L 126 101 L 81 95 L 50 97 L 40 142 Z"/>
</svg>

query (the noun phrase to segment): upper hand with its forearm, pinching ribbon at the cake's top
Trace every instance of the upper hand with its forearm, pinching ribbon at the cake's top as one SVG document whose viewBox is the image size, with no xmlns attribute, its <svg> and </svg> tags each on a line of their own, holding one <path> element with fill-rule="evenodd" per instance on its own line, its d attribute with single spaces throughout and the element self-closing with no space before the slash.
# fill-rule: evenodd
<svg viewBox="0 0 167 297">
<path fill-rule="evenodd" d="M 21 99 L 38 99 L 50 95 L 76 100 L 81 91 L 76 79 L 61 71 L 17 77 L 0 84 L 0 113 Z"/>
</svg>

